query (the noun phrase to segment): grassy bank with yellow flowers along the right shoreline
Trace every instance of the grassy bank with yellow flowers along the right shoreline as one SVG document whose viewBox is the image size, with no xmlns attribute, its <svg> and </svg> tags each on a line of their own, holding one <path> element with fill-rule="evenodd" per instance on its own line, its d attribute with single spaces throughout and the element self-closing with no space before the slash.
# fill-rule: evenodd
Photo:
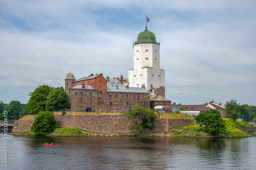
<svg viewBox="0 0 256 170">
<path fill-rule="evenodd" d="M 226 123 L 227 129 L 222 134 L 219 134 L 216 137 L 250 137 L 250 135 L 248 135 L 247 132 L 236 129 L 235 127 L 250 127 L 253 125 L 250 125 L 247 122 L 239 122 L 239 121 L 234 121 L 234 120 L 225 119 L 225 118 L 223 118 L 223 120 Z M 190 124 L 189 126 L 185 126 L 185 127 L 176 127 L 176 128 L 170 129 L 169 136 L 211 137 L 212 136 L 211 134 L 205 133 L 203 126 L 200 127 L 200 125 Z"/>
</svg>

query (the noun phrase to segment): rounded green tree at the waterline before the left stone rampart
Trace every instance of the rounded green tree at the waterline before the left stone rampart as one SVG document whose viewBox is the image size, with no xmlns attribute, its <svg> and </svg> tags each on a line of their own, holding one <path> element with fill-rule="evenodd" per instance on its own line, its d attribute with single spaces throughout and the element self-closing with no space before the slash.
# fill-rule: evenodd
<svg viewBox="0 0 256 170">
<path fill-rule="evenodd" d="M 52 133 L 56 127 L 53 112 L 40 111 L 31 126 L 31 131 L 34 132 L 35 135 L 42 136 Z"/>
</svg>

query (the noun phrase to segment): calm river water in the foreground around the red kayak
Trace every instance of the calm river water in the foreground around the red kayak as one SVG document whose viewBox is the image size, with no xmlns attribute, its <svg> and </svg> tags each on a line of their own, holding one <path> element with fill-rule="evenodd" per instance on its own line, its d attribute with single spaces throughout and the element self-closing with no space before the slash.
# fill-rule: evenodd
<svg viewBox="0 0 256 170">
<path fill-rule="evenodd" d="M 0 135 L 0 169 L 256 169 L 251 138 Z M 8 166 L 4 166 L 8 139 Z M 56 146 L 43 146 L 53 142 Z"/>
</svg>

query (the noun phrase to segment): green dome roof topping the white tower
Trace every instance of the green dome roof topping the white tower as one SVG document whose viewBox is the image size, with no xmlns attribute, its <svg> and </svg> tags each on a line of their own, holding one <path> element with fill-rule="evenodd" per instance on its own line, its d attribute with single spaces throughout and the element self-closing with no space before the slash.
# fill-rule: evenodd
<svg viewBox="0 0 256 170">
<path fill-rule="evenodd" d="M 150 32 L 147 30 L 147 26 L 145 31 L 139 33 L 138 37 L 137 37 L 137 41 L 135 41 L 134 44 L 140 44 L 140 43 L 155 43 L 155 44 L 159 44 L 158 42 L 156 42 L 156 36 L 153 32 Z"/>
</svg>

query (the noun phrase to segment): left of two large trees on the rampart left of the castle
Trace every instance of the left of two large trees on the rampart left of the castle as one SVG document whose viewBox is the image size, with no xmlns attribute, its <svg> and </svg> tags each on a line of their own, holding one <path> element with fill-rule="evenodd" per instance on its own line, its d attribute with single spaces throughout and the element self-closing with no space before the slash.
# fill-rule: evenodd
<svg viewBox="0 0 256 170">
<path fill-rule="evenodd" d="M 44 111 L 47 96 L 53 89 L 54 87 L 42 85 L 37 87 L 33 92 L 29 93 L 28 96 L 30 96 L 30 99 L 28 101 L 28 105 L 25 108 L 25 111 L 29 113 L 37 113 L 39 111 Z"/>
</svg>

